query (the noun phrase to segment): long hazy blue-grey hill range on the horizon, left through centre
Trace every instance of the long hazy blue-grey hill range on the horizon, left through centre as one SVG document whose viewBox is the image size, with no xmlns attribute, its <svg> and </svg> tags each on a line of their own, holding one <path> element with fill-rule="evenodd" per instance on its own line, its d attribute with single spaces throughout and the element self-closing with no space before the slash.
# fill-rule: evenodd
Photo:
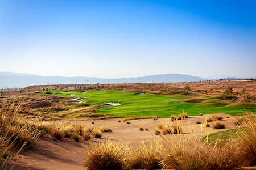
<svg viewBox="0 0 256 170">
<path fill-rule="evenodd" d="M 33 74 L 11 73 L 0 71 L 0 88 L 22 88 L 44 84 L 117 84 L 117 83 L 165 83 L 207 80 L 198 76 L 185 74 L 160 74 L 133 78 L 104 79 L 86 76 L 39 76 Z"/>
</svg>

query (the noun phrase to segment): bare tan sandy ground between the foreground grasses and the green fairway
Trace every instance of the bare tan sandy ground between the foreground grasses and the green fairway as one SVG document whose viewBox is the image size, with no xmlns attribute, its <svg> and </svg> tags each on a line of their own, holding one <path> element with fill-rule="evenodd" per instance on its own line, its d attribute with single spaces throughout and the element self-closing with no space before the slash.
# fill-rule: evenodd
<svg viewBox="0 0 256 170">
<path fill-rule="evenodd" d="M 224 120 L 222 121 L 225 122 L 226 129 L 213 129 L 212 122 L 210 122 L 210 127 L 206 128 L 204 135 L 207 135 L 207 133 L 215 133 L 217 131 L 233 128 L 233 116 L 225 118 L 227 115 L 224 113 L 221 114 L 222 117 L 224 117 Z M 190 132 L 191 134 L 192 125 L 197 121 L 201 121 L 203 123 L 204 118 L 207 116 L 209 116 L 209 114 L 203 116 L 190 116 L 189 118 L 186 118 L 187 126 L 190 127 L 187 132 Z M 170 118 L 159 118 L 159 120 L 156 121 L 153 119 L 129 120 L 131 124 L 128 125 L 126 122 L 123 122 L 122 119 L 120 120 L 121 122 L 118 122 L 118 118 L 94 120 L 94 124 L 92 124 L 91 121 L 69 122 L 92 126 L 103 125 L 112 129 L 112 132 L 104 133 L 102 135 L 102 139 L 93 138 L 93 142 L 105 141 L 106 139 L 115 139 L 125 140 L 126 142 L 129 142 L 129 145 L 139 145 L 139 143 L 142 141 L 150 141 L 154 138 L 159 138 L 158 135 L 155 135 L 154 128 L 159 125 L 159 122 L 163 122 L 163 124 L 171 122 Z M 138 125 L 143 125 L 145 128 L 148 128 L 148 131 L 139 131 Z M 193 135 L 200 135 L 200 130 L 201 124 L 195 124 Z M 168 136 L 175 137 L 175 135 L 176 134 L 172 134 Z M 81 142 L 73 142 L 66 138 L 55 142 L 53 141 L 52 137 L 46 134 L 42 139 L 36 141 L 31 150 L 24 150 L 20 153 L 20 160 L 18 164 L 31 169 L 85 169 L 85 167 L 82 165 L 84 156 L 79 152 L 82 150 L 81 145 L 83 144 L 89 145 L 89 142 L 83 141 L 82 139 Z"/>
</svg>

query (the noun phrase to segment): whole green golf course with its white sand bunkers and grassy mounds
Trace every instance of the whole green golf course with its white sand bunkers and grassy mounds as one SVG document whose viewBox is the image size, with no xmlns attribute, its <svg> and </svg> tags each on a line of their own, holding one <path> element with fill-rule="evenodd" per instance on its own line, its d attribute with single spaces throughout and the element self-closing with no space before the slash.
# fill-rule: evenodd
<svg viewBox="0 0 256 170">
<path fill-rule="evenodd" d="M 138 95 L 143 92 L 143 95 Z M 170 117 L 172 114 L 182 113 L 189 116 L 201 114 L 226 113 L 237 115 L 245 109 L 256 111 L 255 104 L 233 104 L 236 97 L 203 96 L 185 92 L 167 92 L 156 94 L 150 91 L 46 91 L 44 94 L 77 99 L 77 104 L 120 103 L 113 107 L 100 107 L 94 113 L 104 113 L 119 116 L 158 116 Z M 69 102 L 64 100 L 62 102 Z M 73 101 L 73 103 L 75 103 Z"/>
</svg>

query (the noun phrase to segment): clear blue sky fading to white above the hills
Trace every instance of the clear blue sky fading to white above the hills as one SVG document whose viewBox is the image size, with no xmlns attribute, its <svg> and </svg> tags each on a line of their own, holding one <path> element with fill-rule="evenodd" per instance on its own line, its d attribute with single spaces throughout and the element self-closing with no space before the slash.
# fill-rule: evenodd
<svg viewBox="0 0 256 170">
<path fill-rule="evenodd" d="M 0 0 L 0 71 L 256 76 L 256 1 Z"/>
</svg>

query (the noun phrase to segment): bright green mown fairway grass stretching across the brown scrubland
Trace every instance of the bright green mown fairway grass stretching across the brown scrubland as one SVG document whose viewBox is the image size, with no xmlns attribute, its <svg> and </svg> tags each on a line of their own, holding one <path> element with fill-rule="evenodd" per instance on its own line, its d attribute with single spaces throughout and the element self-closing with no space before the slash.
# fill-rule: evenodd
<svg viewBox="0 0 256 170">
<path fill-rule="evenodd" d="M 46 93 L 46 92 L 45 92 Z M 221 107 L 205 107 L 204 105 L 191 104 L 180 102 L 181 100 L 188 99 L 192 94 L 168 93 L 168 94 L 151 94 L 145 92 L 144 95 L 134 95 L 130 92 L 109 90 L 109 91 L 88 91 L 87 93 L 75 92 L 75 91 L 54 91 L 53 95 L 60 93 L 57 96 L 65 96 L 68 94 L 74 94 L 70 96 L 76 97 L 88 97 L 82 99 L 86 104 L 98 104 L 98 103 L 122 103 L 122 105 L 116 107 L 102 107 L 98 109 L 97 113 L 113 114 L 113 115 L 131 115 L 131 116 L 158 116 L 158 117 L 170 117 L 171 114 L 178 114 L 180 112 L 187 112 L 188 115 L 199 115 L 209 113 L 227 113 L 236 115 L 244 112 L 243 108 L 228 108 L 225 105 L 219 104 Z M 174 95 L 175 94 L 175 95 Z M 195 96 L 194 96 L 195 97 Z M 196 96 L 200 97 L 200 96 Z M 216 101 L 215 101 L 216 102 Z M 256 109 L 251 109 L 255 112 Z"/>
</svg>

